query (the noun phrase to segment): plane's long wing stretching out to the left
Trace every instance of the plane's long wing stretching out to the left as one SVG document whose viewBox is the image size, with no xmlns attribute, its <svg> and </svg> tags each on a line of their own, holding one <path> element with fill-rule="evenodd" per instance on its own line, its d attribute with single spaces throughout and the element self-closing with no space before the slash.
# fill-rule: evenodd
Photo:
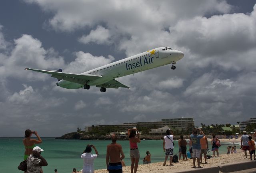
<svg viewBox="0 0 256 173">
<path fill-rule="evenodd" d="M 57 78 L 58 80 L 66 80 L 78 84 L 85 84 L 88 81 L 102 78 L 102 76 L 100 75 L 63 73 L 58 70 L 37 70 L 32 68 L 25 68 L 24 70 L 32 70 L 35 72 L 51 74 L 53 78 Z"/>
</svg>

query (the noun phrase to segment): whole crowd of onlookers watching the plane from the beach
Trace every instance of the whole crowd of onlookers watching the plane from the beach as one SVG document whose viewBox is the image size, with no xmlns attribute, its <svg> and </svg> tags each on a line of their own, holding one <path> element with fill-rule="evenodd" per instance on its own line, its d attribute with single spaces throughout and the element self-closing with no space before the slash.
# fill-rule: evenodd
<svg viewBox="0 0 256 173">
<path fill-rule="evenodd" d="M 252 136 L 248 136 L 246 131 L 243 131 L 244 135 L 241 137 L 241 149 L 244 151 L 245 157 L 247 158 L 247 150 L 250 154 L 250 159 L 252 160 L 252 155 L 255 159 L 255 144 L 254 140 L 252 140 Z M 32 139 L 32 135 L 36 135 L 37 139 Z M 254 133 L 256 137 L 256 132 Z M 130 144 L 130 159 L 131 173 L 136 173 L 138 170 L 138 163 L 140 159 L 140 152 L 138 149 L 138 143 L 140 143 L 140 133 L 138 129 L 135 127 L 133 129 L 128 129 L 128 137 Z M 107 145 L 106 147 L 106 168 L 109 173 L 122 173 L 122 167 L 125 166 L 123 161 L 124 152 L 122 150 L 122 146 L 118 144 L 117 136 L 113 134 L 111 136 L 112 143 Z M 25 146 L 24 153 L 24 161 L 26 162 L 26 173 L 43 173 L 42 167 L 47 166 L 48 163 L 44 157 L 42 157 L 41 152 L 44 151 L 36 144 L 42 143 L 42 139 L 38 135 L 36 131 L 31 131 L 27 129 L 25 131 L 25 138 L 23 139 L 23 144 Z M 184 139 L 183 135 L 180 135 L 180 139 L 178 140 L 179 147 L 179 160 L 181 156 L 183 157 L 183 161 L 188 161 L 188 158 L 193 160 L 192 168 L 202 168 L 200 163 L 207 164 L 209 151 L 208 139 L 204 135 L 204 132 L 200 129 L 194 129 L 189 138 L 189 149 L 187 151 L 187 141 Z M 220 139 L 216 137 L 216 135 L 212 135 L 211 139 L 213 157 L 220 157 L 218 149 L 221 146 Z M 92 149 L 94 149 L 95 154 L 92 154 Z M 233 147 L 228 146 L 228 154 L 236 153 L 236 145 L 233 143 Z M 170 157 L 170 165 L 172 163 L 178 162 L 178 156 L 174 155 L 174 133 L 171 129 L 166 130 L 166 135 L 163 140 L 163 150 L 165 152 L 165 159 L 163 166 L 166 165 L 166 161 L 168 157 Z M 217 156 L 215 156 L 215 153 Z M 81 159 L 84 161 L 82 173 L 93 173 L 94 172 L 94 159 L 98 157 L 99 153 L 94 145 L 87 145 L 83 153 L 81 154 Z M 204 163 L 202 162 L 202 155 L 204 155 Z M 177 157 L 177 159 L 174 157 Z M 197 160 L 197 167 L 196 167 Z M 146 156 L 143 159 L 144 164 L 151 163 L 151 154 L 149 151 L 146 151 Z M 57 169 L 54 170 L 55 173 Z M 76 173 L 76 168 L 73 169 L 72 173 Z"/>
</svg>

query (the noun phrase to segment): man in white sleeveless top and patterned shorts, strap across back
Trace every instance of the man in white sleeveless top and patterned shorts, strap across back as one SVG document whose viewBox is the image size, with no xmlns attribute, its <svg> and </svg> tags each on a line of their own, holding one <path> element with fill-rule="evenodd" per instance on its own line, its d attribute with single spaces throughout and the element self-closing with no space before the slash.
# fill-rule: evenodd
<svg viewBox="0 0 256 173">
<path fill-rule="evenodd" d="M 164 136 L 163 149 L 165 152 L 165 160 L 163 165 L 166 165 L 168 156 L 170 156 L 170 165 L 172 165 L 172 155 L 173 155 L 173 132 L 168 129 L 166 130 L 166 136 Z"/>
</svg>

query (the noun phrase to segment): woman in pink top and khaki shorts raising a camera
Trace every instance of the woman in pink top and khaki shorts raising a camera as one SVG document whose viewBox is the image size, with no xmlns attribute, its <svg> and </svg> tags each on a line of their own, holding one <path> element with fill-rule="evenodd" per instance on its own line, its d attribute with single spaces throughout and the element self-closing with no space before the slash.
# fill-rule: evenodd
<svg viewBox="0 0 256 173">
<path fill-rule="evenodd" d="M 136 135 L 137 132 L 137 135 Z M 137 143 L 140 142 L 140 133 L 137 129 L 128 129 L 129 143 L 130 143 L 130 158 L 131 158 L 131 173 L 137 172 L 140 152 Z"/>
</svg>

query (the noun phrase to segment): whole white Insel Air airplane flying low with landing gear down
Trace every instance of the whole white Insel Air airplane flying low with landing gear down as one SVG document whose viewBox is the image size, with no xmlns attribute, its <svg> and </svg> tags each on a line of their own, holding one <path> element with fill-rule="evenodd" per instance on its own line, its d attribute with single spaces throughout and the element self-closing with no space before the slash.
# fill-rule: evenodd
<svg viewBox="0 0 256 173">
<path fill-rule="evenodd" d="M 57 78 L 57 86 L 67 89 L 90 89 L 90 86 L 100 87 L 101 92 L 106 92 L 106 88 L 130 88 L 121 84 L 116 78 L 135 74 L 152 68 L 172 64 L 171 69 L 175 70 L 176 62 L 183 58 L 184 53 L 169 47 L 160 47 L 147 52 L 143 52 L 122 60 L 112 62 L 110 64 L 94 68 L 81 74 L 64 73 L 59 70 L 37 70 L 25 68 L 24 70 L 32 70 L 51 74 L 53 78 Z"/>
</svg>

